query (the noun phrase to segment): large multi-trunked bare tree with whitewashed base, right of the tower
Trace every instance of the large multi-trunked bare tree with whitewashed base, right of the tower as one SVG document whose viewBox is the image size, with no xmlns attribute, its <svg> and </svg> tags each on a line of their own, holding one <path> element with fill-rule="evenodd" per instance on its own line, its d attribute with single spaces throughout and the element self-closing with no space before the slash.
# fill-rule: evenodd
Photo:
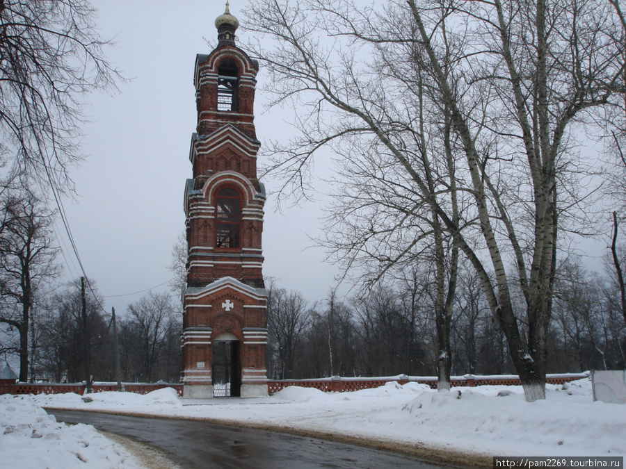
<svg viewBox="0 0 626 469">
<path fill-rule="evenodd" d="M 584 220 L 574 170 L 584 162 L 572 147 L 584 134 L 579 124 L 593 125 L 592 112 L 623 94 L 616 10 L 576 0 L 409 0 L 378 9 L 266 0 L 251 6 L 246 25 L 276 40 L 271 51 L 250 47 L 276 101 L 302 110 L 302 136 L 275 147 L 273 169 L 302 187 L 314 152 L 335 141 L 360 149 L 344 153 L 355 165 L 370 152 L 390 158 L 412 183 L 412 204 L 436 214 L 479 275 L 527 400 L 544 398 L 559 229 Z M 426 79 L 411 69 L 398 76 L 390 63 Z M 428 99 L 423 117 L 411 105 L 419 94 Z M 422 121 L 450 123 L 454 190 L 443 173 L 430 186 L 426 163 L 408 147 Z M 446 154 L 445 132 L 429 135 Z M 458 219 L 453 193 L 464 207 Z"/>
</svg>

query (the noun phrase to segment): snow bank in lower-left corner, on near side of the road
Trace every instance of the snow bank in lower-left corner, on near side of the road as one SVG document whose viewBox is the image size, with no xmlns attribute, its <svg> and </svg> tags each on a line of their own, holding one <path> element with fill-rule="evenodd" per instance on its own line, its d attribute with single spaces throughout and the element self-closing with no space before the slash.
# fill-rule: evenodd
<svg viewBox="0 0 626 469">
<path fill-rule="evenodd" d="M 79 396 L 78 396 L 79 397 Z M 65 397 L 65 402 L 76 402 Z M 56 422 L 29 398 L 0 395 L 0 454 L 5 468 L 138 468 L 128 452 L 91 425 Z"/>
</svg>

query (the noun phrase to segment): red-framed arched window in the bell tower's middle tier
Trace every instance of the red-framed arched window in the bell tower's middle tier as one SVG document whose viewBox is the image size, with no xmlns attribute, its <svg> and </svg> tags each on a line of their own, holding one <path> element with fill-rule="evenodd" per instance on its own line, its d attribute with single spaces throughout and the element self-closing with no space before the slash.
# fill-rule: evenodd
<svg viewBox="0 0 626 469">
<path fill-rule="evenodd" d="M 239 247 L 241 238 L 241 196 L 233 188 L 221 189 L 215 204 L 215 246 Z"/>
</svg>

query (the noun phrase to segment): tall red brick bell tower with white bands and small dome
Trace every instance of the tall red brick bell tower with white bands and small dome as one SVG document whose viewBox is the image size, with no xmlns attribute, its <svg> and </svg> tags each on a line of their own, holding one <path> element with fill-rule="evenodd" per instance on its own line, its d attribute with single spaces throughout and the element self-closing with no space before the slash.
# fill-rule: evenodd
<svg viewBox="0 0 626 469">
<path fill-rule="evenodd" d="M 236 47 L 237 19 L 216 19 L 218 46 L 195 59 L 198 126 L 185 188 L 185 397 L 267 394 L 261 249 L 265 189 L 254 124 L 259 65 Z"/>
</svg>

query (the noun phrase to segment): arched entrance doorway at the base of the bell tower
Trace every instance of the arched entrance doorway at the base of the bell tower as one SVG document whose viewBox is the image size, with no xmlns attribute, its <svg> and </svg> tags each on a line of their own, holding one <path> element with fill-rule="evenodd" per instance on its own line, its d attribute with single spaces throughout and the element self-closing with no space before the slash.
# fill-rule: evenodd
<svg viewBox="0 0 626 469">
<path fill-rule="evenodd" d="M 241 395 L 239 339 L 230 332 L 219 334 L 213 341 L 213 397 Z"/>
</svg>

